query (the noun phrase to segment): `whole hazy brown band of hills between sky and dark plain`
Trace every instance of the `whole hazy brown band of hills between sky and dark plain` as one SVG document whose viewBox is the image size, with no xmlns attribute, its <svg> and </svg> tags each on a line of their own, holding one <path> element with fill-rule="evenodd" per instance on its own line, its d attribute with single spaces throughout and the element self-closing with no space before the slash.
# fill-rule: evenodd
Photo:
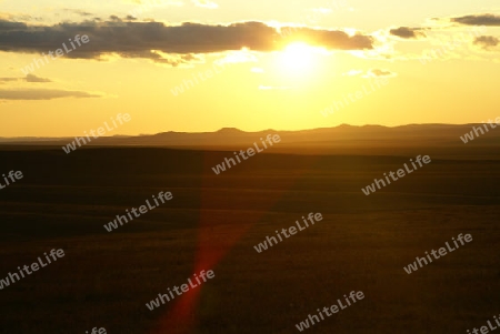
<svg viewBox="0 0 500 334">
<path fill-rule="evenodd" d="M 301 131 L 263 130 L 246 132 L 236 128 L 222 128 L 214 132 L 161 132 L 141 135 L 114 135 L 92 139 L 81 148 L 96 146 L 151 146 L 189 150 L 246 150 L 259 143 L 268 134 L 279 134 L 281 141 L 266 153 L 298 154 L 372 154 L 408 155 L 439 152 L 443 156 L 493 156 L 500 159 L 500 126 L 469 140 L 461 138 L 472 133 L 472 128 L 484 129 L 484 124 L 408 124 L 401 126 L 341 124 L 334 128 Z M 66 146 L 74 138 L 18 138 L 0 139 L 0 146 Z M 81 148 L 77 148 L 81 149 Z M 482 149 L 479 149 L 482 148 Z M 426 153 L 424 153 L 426 152 Z M 499 155 L 499 158 L 497 158 Z"/>
</svg>

